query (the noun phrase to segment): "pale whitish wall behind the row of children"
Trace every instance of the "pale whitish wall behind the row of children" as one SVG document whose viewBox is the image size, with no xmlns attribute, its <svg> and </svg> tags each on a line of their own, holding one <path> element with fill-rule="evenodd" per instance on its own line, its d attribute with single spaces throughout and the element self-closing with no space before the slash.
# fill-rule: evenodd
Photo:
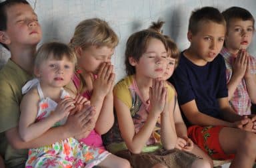
<svg viewBox="0 0 256 168">
<path fill-rule="evenodd" d="M 131 33 L 146 29 L 152 21 L 165 21 L 163 33 L 171 36 L 181 50 L 189 46 L 187 26 L 189 15 L 195 8 L 212 6 L 220 11 L 239 6 L 249 10 L 256 17 L 255 0 L 29 0 L 35 7 L 43 29 L 41 42 L 69 42 L 75 26 L 84 19 L 99 17 L 109 22 L 119 36 L 120 42 L 112 62 L 117 80 L 125 75 L 125 42 Z M 249 52 L 256 56 L 256 37 Z M 0 50 L 0 65 L 9 53 Z"/>
</svg>

